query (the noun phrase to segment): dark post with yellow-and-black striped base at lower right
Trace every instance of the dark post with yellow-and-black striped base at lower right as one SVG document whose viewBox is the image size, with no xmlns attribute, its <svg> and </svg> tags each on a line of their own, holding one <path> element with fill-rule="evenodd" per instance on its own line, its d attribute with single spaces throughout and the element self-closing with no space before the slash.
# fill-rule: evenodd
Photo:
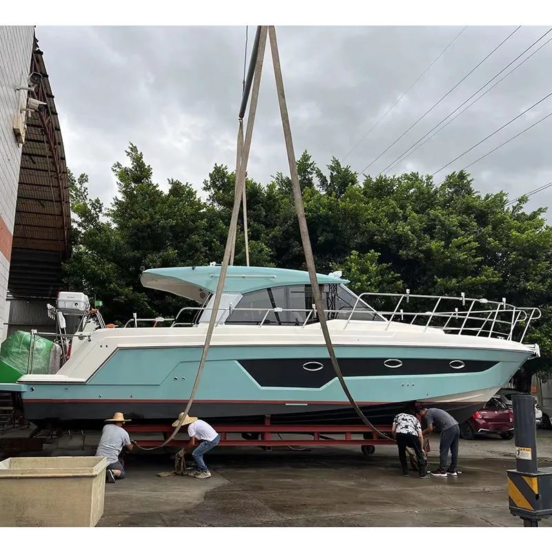
<svg viewBox="0 0 552 552">
<path fill-rule="evenodd" d="M 552 469 L 538 469 L 533 396 L 515 394 L 512 403 L 516 469 L 507 472 L 510 513 L 524 527 L 538 527 L 552 514 Z"/>
</svg>

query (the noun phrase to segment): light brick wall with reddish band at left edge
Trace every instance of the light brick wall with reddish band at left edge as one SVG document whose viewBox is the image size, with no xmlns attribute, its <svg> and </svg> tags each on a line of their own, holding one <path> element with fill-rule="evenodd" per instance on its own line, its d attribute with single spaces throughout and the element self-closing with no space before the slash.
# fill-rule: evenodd
<svg viewBox="0 0 552 552">
<path fill-rule="evenodd" d="M 27 99 L 27 92 L 17 92 L 14 86 L 26 86 L 33 37 L 33 26 L 0 26 L 0 342 L 8 323 L 6 292 L 21 164 L 12 126 Z"/>
</svg>

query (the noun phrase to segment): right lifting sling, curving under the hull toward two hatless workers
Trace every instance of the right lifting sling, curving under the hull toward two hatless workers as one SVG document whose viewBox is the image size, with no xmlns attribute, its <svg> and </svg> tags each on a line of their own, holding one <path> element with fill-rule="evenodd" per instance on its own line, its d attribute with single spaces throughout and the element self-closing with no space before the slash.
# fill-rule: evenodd
<svg viewBox="0 0 552 552">
<path fill-rule="evenodd" d="M 299 184 L 299 175 L 297 174 L 297 162 L 295 160 L 295 151 L 293 150 L 293 139 L 291 136 L 291 127 L 289 122 L 288 108 L 286 105 L 286 95 L 284 92 L 284 81 L 282 78 L 282 66 L 280 65 L 279 53 L 278 53 L 278 44 L 276 40 L 276 30 L 274 26 L 268 27 L 268 35 L 270 37 L 270 50 L 272 50 L 272 59 L 274 66 L 274 76 L 276 79 L 276 90 L 278 94 L 278 102 L 280 108 L 280 115 L 282 116 L 282 126 L 284 128 L 284 139 L 286 141 L 286 150 L 288 154 L 288 164 L 291 176 L 291 183 L 293 185 L 293 197 L 295 199 L 295 208 L 297 210 L 297 219 L 299 221 L 299 230 L 301 232 L 301 239 L 303 244 L 303 250 L 305 253 L 306 265 L 308 268 L 308 275 L 311 279 L 311 288 L 313 290 L 313 299 L 315 301 L 315 307 L 318 311 L 318 318 L 320 322 L 320 327 L 322 328 L 322 334 L 324 335 L 324 341 L 326 342 L 326 347 L 328 348 L 328 354 L 330 355 L 331 362 L 337 379 L 341 384 L 343 391 L 351 403 L 351 406 L 355 409 L 359 418 L 372 429 L 377 435 L 384 437 L 384 439 L 392 440 L 388 435 L 381 433 L 380 431 L 373 426 L 362 410 L 359 408 L 353 395 L 351 395 L 348 390 L 347 384 L 344 380 L 341 368 L 339 368 L 339 363 L 337 362 L 337 357 L 335 356 L 335 351 L 333 344 L 331 342 L 330 333 L 328 331 L 328 324 L 326 322 L 326 313 L 324 313 L 324 304 L 322 303 L 322 293 L 320 293 L 320 288 L 318 286 L 317 273 L 315 269 L 315 261 L 313 257 L 313 248 L 311 246 L 311 239 L 308 236 L 308 227 L 306 224 L 306 215 L 305 208 L 303 204 L 303 195 L 301 192 L 301 185 Z"/>
</svg>

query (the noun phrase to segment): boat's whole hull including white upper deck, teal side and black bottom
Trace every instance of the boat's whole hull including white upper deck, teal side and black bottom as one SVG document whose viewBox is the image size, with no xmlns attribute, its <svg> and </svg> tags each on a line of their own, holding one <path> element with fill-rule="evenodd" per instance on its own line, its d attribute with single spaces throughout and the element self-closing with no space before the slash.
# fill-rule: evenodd
<svg viewBox="0 0 552 552">
<path fill-rule="evenodd" d="M 259 328 L 257 328 L 259 329 Z M 317 328 L 219 329 L 191 414 L 219 424 L 361 423 Z M 55 375 L 20 378 L 25 417 L 38 426 L 98 427 L 115 411 L 166 424 L 184 411 L 203 351 L 203 328 L 101 330 Z M 349 391 L 374 424 L 409 402 L 477 411 L 533 355 L 498 339 L 431 333 L 335 331 Z"/>
</svg>

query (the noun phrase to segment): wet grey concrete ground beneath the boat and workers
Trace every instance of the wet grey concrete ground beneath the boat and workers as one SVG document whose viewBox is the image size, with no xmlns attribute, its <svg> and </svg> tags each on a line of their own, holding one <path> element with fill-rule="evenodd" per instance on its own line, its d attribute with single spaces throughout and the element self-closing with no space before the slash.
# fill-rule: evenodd
<svg viewBox="0 0 552 552">
<path fill-rule="evenodd" d="M 432 448 L 430 468 L 435 439 Z M 156 477 L 172 469 L 166 455 L 127 457 L 126 480 L 106 484 L 98 526 L 522 526 L 508 509 L 513 441 L 461 441 L 462 474 L 444 480 L 404 477 L 396 450 L 218 447 L 206 455 L 208 480 Z M 552 431 L 538 431 L 538 451 L 552 466 Z"/>
</svg>

